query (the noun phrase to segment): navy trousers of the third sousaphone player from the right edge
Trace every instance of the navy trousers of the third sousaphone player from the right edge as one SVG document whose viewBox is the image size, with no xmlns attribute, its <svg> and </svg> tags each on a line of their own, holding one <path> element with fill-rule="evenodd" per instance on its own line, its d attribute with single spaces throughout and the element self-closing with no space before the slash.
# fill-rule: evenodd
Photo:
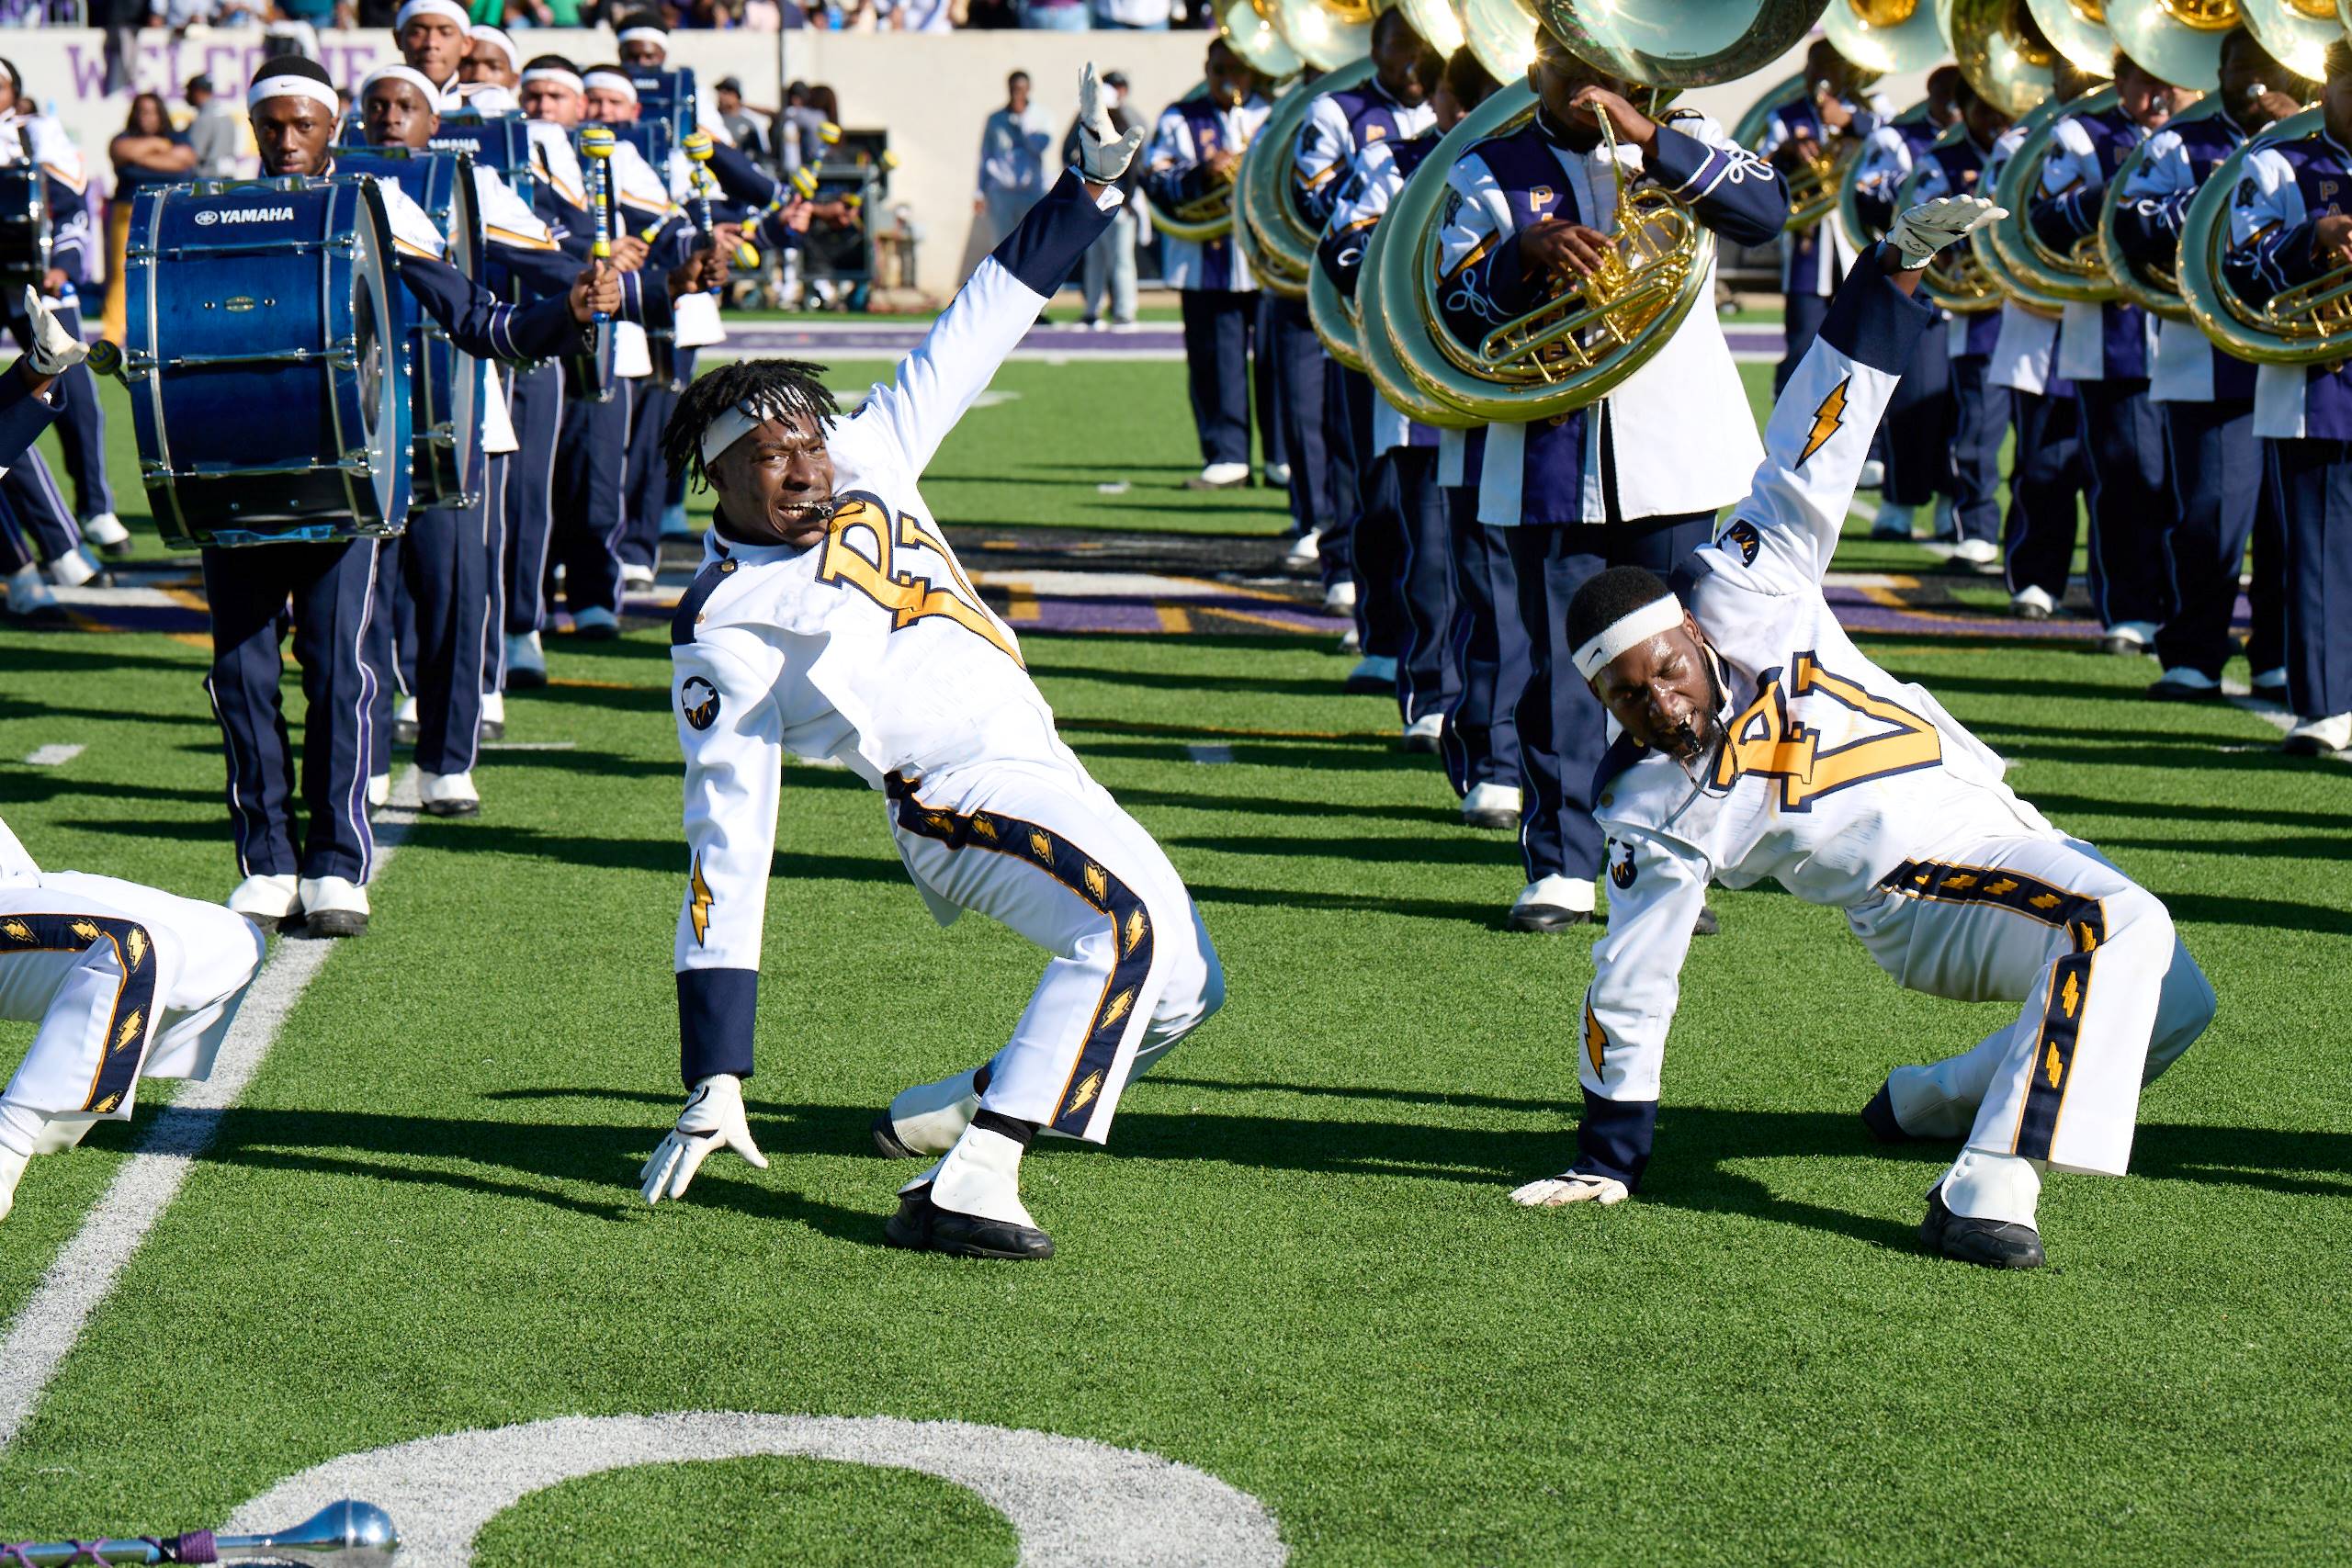
<svg viewBox="0 0 2352 1568">
<path fill-rule="evenodd" d="M 2100 625 L 2161 625 L 2171 614 L 2164 529 L 2173 487 L 2164 473 L 2164 418 L 2145 381 L 2077 381 L 2082 454 L 2091 475 L 2091 602 Z"/>
</svg>

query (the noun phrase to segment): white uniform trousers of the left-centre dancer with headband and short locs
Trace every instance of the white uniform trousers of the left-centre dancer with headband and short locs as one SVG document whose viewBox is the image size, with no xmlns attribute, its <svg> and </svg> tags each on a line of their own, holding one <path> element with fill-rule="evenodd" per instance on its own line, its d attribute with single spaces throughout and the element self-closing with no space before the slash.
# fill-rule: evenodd
<svg viewBox="0 0 2352 1568">
<path fill-rule="evenodd" d="M 1049 954 L 981 1107 L 1103 1143 L 1129 1079 L 1225 999 L 1176 867 L 1051 736 L 1033 757 L 894 780 L 889 795 L 898 858 L 931 914 L 985 914 Z"/>
</svg>

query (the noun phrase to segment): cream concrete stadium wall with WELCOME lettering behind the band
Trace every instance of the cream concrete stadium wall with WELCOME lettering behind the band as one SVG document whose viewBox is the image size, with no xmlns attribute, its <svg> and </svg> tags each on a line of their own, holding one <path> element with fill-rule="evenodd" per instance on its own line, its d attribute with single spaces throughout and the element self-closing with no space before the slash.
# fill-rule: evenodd
<svg viewBox="0 0 2352 1568">
<path fill-rule="evenodd" d="M 529 54 L 555 52 L 583 66 L 614 56 L 609 33 L 527 31 Z M 322 56 L 341 82 L 358 82 L 400 52 L 388 33 L 325 33 Z M 1077 106 L 1077 73 L 1094 59 L 1105 71 L 1127 71 L 1136 106 L 1157 115 L 1200 80 L 1207 38 L 1202 33 L 696 33 L 670 35 L 670 59 L 691 66 L 703 82 L 722 75 L 743 80 L 753 108 L 781 99 L 781 82 L 800 78 L 830 82 L 849 127 L 889 132 L 901 167 L 891 176 L 891 202 L 906 205 L 922 228 L 917 282 L 948 294 L 990 242 L 974 233 L 971 197 L 978 169 L 981 122 L 1004 101 L 1004 75 L 1028 71 L 1035 99 L 1058 122 Z M 26 94 L 64 120 L 85 160 L 113 183 L 106 143 L 122 129 L 129 94 L 103 92 L 103 33 L 85 28 L 24 28 L 0 38 L 0 52 L 16 63 Z M 1745 82 L 1705 87 L 1682 101 L 1712 113 L 1726 127 L 1755 94 L 1797 71 L 1799 52 Z M 242 92 L 261 63 L 259 31 L 212 33 L 174 40 L 160 28 L 139 35 L 132 87 L 176 99 L 198 73 L 228 92 Z M 1884 92 L 1896 103 L 1919 96 L 1919 78 L 1891 78 Z"/>
</svg>

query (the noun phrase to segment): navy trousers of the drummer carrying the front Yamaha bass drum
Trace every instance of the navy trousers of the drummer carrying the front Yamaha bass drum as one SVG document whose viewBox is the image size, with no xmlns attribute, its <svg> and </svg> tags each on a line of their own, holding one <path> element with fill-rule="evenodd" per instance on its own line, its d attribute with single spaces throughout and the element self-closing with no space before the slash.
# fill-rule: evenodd
<svg viewBox="0 0 2352 1568">
<path fill-rule="evenodd" d="M 228 820 L 247 877 L 367 882 L 376 842 L 367 830 L 376 672 L 367 663 L 376 545 L 247 545 L 205 550 L 212 672 L 205 691 L 228 750 Z M 301 802 L 296 849 L 294 748 L 278 677 L 294 630 L 301 665 Z"/>
</svg>

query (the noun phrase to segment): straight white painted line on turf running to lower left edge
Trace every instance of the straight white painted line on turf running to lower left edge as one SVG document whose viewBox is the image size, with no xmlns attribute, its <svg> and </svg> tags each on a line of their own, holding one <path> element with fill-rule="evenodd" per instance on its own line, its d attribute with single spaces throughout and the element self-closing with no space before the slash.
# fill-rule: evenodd
<svg viewBox="0 0 2352 1568">
<path fill-rule="evenodd" d="M 409 766 L 393 788 L 390 806 L 376 820 L 379 875 L 416 820 L 416 769 Z M 301 1001 L 310 980 L 318 978 L 329 952 L 334 952 L 332 940 L 280 938 L 261 964 L 261 973 L 254 976 L 238 1023 L 221 1041 L 212 1077 L 188 1084 L 158 1112 L 146 1135 L 132 1147 L 129 1159 L 122 1161 L 106 1197 L 73 1232 L 73 1239 L 66 1241 L 56 1262 L 24 1302 L 16 1321 L 7 1326 L 7 1338 L 0 1340 L 0 1450 L 7 1450 L 24 1432 L 26 1420 L 33 1418 L 42 1392 L 56 1378 L 56 1368 L 82 1338 L 82 1326 L 113 1295 L 122 1265 L 132 1260 L 155 1220 L 179 1197 L 179 1185 L 188 1180 L 195 1157 L 212 1145 L 221 1112 L 230 1110 L 245 1086 L 254 1081 L 261 1058 L 278 1044 L 280 1025 Z"/>
</svg>

